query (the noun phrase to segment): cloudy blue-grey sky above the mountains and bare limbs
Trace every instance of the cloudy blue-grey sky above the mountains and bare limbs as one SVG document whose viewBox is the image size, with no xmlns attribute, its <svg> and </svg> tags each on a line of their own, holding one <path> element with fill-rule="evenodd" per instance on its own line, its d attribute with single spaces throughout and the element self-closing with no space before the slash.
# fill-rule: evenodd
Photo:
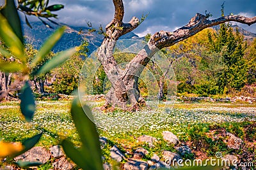
<svg viewBox="0 0 256 170">
<path fill-rule="evenodd" d="M 0 0 L 3 1 L 3 0 Z M 64 4 L 65 8 L 56 13 L 58 22 L 68 25 L 86 26 L 90 21 L 97 27 L 105 27 L 113 19 L 114 6 L 111 0 L 51 0 L 52 4 Z M 186 25 L 196 13 L 205 14 L 205 10 L 213 17 L 221 15 L 221 4 L 224 0 L 124 0 L 124 22 L 136 16 L 148 13 L 147 19 L 134 32 L 139 36 L 156 31 L 174 31 Z M 256 0 L 225 0 L 225 15 L 256 16 Z M 33 18 L 32 18 L 33 19 Z M 239 24 L 242 25 L 242 24 Z M 256 24 L 244 29 L 256 33 Z"/>
</svg>

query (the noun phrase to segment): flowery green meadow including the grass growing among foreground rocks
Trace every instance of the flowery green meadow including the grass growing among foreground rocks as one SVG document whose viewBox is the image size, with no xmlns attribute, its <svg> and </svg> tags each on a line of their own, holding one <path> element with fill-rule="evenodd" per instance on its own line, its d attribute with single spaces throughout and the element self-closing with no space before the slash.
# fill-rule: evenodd
<svg viewBox="0 0 256 170">
<path fill-rule="evenodd" d="M 99 104 L 90 103 L 92 108 Z M 75 145 L 80 145 L 70 117 L 70 101 L 37 101 L 36 106 L 35 117 L 28 124 L 21 116 L 18 102 L 0 103 L 0 138 L 3 141 L 24 141 L 39 132 L 44 132 L 38 146 L 49 148 L 58 145 L 60 138 L 69 138 Z M 217 106 L 223 110 L 214 110 Z M 243 113 L 237 112 L 236 108 L 241 107 L 248 110 L 245 109 Z M 106 158 L 104 162 L 110 162 L 109 148 L 113 145 L 127 153 L 127 157 L 131 157 L 136 148 L 143 147 L 149 152 L 145 159 L 150 159 L 155 153 L 161 157 L 163 150 L 177 152 L 173 145 L 163 141 L 163 131 L 173 132 L 182 143 L 193 141 L 193 146 L 200 147 L 200 150 L 210 157 L 214 157 L 216 152 L 233 153 L 234 150 L 228 149 L 223 141 L 212 141 L 206 133 L 211 129 L 224 128 L 243 140 L 255 142 L 256 119 L 252 110 L 256 110 L 255 105 L 177 103 L 170 108 L 144 108 L 136 113 L 100 113 L 94 110 L 93 115 L 100 136 L 109 140 L 108 145 L 102 150 L 102 155 Z M 156 147 L 150 148 L 147 143 L 138 143 L 136 138 L 143 134 L 157 138 L 157 142 L 154 143 Z M 239 152 L 242 151 L 237 151 Z M 256 153 L 255 148 L 248 148 L 248 152 Z M 195 155 L 192 153 L 184 155 L 183 158 L 192 159 Z M 51 165 L 42 166 L 41 169 L 47 169 L 48 166 Z"/>
</svg>

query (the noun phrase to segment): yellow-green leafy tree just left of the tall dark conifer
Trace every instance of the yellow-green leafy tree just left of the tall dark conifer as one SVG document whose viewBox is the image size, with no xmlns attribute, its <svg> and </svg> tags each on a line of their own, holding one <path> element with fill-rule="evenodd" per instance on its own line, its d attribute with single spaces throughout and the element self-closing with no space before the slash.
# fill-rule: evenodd
<svg viewBox="0 0 256 170">
<path fill-rule="evenodd" d="M 216 72 L 221 67 L 220 56 L 211 50 L 208 39 L 208 34 L 215 32 L 213 29 L 205 29 L 169 47 L 170 55 L 175 59 L 173 69 L 179 83 L 178 93 L 200 96 L 217 93 Z"/>
</svg>

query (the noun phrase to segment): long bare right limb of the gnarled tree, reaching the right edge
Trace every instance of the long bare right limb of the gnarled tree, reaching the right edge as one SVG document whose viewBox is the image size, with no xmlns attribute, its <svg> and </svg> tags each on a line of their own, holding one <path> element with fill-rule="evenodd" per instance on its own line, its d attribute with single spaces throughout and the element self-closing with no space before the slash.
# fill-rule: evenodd
<svg viewBox="0 0 256 170">
<path fill-rule="evenodd" d="M 238 15 L 228 15 L 220 17 L 214 20 L 208 20 L 205 15 L 196 13 L 195 17 L 191 18 L 189 23 L 180 29 L 177 29 L 174 32 L 169 31 L 159 31 L 152 35 L 147 43 L 147 45 L 141 49 L 141 51 L 134 57 L 134 59 L 129 62 L 125 73 L 128 74 L 140 74 L 142 70 L 134 69 L 129 66 L 134 66 L 136 64 L 141 64 L 142 66 L 147 66 L 151 57 L 158 50 L 161 50 L 164 47 L 175 45 L 179 41 L 189 38 L 190 36 L 195 35 L 196 33 L 202 31 L 207 27 L 214 25 L 223 24 L 228 21 L 236 21 L 243 24 L 252 25 L 256 22 L 256 17 L 246 18 Z"/>
</svg>

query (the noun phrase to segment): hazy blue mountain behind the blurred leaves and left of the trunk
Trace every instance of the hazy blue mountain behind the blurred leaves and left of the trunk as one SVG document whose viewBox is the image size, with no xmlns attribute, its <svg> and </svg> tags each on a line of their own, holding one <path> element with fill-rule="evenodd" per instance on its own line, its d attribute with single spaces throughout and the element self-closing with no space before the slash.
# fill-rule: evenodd
<svg viewBox="0 0 256 170">
<path fill-rule="evenodd" d="M 24 28 L 24 36 L 29 43 L 32 43 L 36 49 L 40 48 L 42 43 L 54 32 L 58 25 L 51 25 L 53 29 L 46 27 L 42 22 L 31 22 L 32 29 L 28 27 L 26 23 L 22 24 Z M 68 26 L 67 30 L 61 37 L 60 41 L 52 49 L 54 52 L 60 52 L 62 50 L 67 50 L 74 46 L 81 45 L 81 42 L 84 38 L 89 42 L 90 53 L 96 50 L 103 41 L 104 36 L 97 34 L 97 32 L 92 32 L 90 34 L 79 34 L 79 31 L 82 29 L 83 32 L 88 32 L 88 27 L 76 27 Z M 120 39 L 140 39 L 138 35 L 133 32 L 129 32 Z"/>
</svg>

